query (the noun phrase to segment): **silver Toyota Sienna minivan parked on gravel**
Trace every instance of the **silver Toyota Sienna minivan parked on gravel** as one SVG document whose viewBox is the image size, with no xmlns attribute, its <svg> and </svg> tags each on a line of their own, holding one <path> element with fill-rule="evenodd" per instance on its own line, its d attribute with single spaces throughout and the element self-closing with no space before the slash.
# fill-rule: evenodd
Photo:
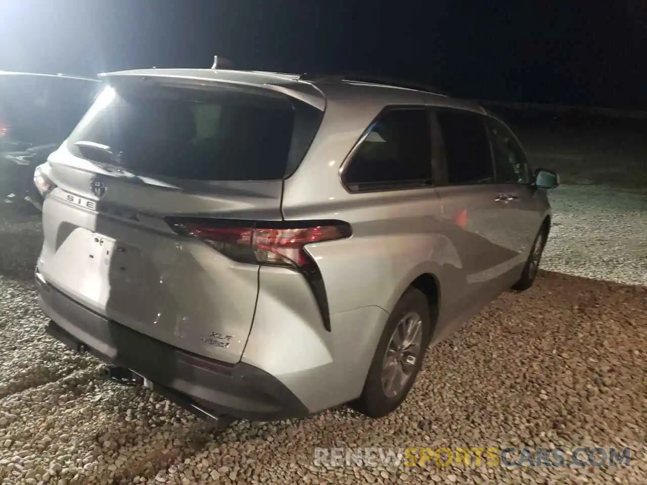
<svg viewBox="0 0 647 485">
<path fill-rule="evenodd" d="M 205 416 L 384 416 L 532 285 L 547 189 L 478 105 L 347 76 L 148 69 L 39 167 L 50 334 Z"/>
</svg>

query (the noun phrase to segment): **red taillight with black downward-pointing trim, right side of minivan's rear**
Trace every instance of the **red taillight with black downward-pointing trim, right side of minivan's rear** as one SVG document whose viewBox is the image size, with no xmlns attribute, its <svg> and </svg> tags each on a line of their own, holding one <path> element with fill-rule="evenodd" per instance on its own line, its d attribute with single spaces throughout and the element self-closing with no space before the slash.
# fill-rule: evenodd
<svg viewBox="0 0 647 485">
<path fill-rule="evenodd" d="M 307 244 L 351 237 L 351 226 L 341 221 L 228 221 L 167 217 L 176 233 L 200 239 L 239 263 L 271 264 L 297 270 L 305 277 L 330 330 L 328 301 L 318 265 L 305 250 Z"/>
</svg>

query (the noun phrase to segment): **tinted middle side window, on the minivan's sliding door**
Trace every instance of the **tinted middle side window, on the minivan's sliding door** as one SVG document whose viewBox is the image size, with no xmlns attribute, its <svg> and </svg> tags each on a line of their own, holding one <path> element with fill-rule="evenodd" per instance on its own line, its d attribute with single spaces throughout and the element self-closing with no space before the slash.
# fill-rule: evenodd
<svg viewBox="0 0 647 485">
<path fill-rule="evenodd" d="M 483 117 L 470 111 L 440 109 L 447 182 L 456 185 L 493 184 L 490 142 Z"/>
</svg>

